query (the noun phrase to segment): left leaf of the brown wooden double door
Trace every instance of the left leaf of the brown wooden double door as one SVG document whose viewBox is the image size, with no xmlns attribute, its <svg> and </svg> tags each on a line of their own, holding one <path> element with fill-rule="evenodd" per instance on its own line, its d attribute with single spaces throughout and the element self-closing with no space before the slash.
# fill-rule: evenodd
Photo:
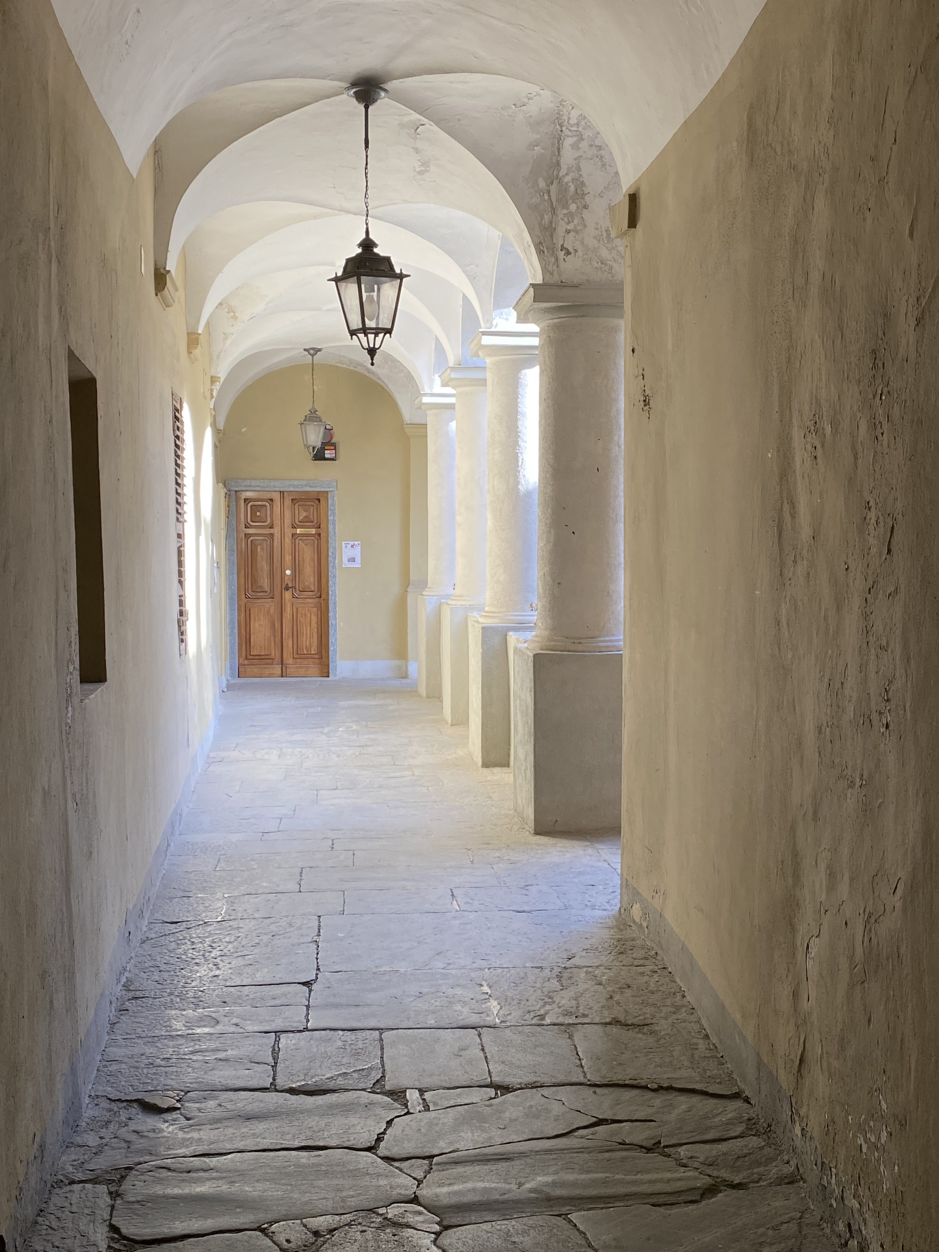
<svg viewBox="0 0 939 1252">
<path fill-rule="evenodd" d="M 239 491 L 238 676 L 283 674 L 280 492 Z"/>
</svg>

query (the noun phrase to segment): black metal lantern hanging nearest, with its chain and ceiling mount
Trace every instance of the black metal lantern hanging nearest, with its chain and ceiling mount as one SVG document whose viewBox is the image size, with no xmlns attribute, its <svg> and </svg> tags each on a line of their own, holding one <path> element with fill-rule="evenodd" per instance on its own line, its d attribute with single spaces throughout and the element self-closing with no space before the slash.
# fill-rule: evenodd
<svg viewBox="0 0 939 1252">
<path fill-rule="evenodd" d="M 358 339 L 374 364 L 376 353 L 394 331 L 401 303 L 401 288 L 409 274 L 394 268 L 391 257 L 382 257 L 368 230 L 368 110 L 388 95 L 387 88 L 361 85 L 346 89 L 366 110 L 366 234 L 359 250 L 347 257 L 342 273 L 331 278 L 339 293 L 342 316 L 351 339 Z"/>
</svg>

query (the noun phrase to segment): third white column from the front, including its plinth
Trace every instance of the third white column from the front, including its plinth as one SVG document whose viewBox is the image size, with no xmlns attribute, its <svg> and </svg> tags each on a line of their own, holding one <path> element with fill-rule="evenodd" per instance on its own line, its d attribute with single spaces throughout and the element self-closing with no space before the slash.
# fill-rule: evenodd
<svg viewBox="0 0 939 1252">
<path fill-rule="evenodd" d="M 486 600 L 486 367 L 452 366 L 441 374 L 457 401 L 456 588 L 441 605 L 441 686 L 451 726 L 470 721 L 467 617 Z"/>
</svg>

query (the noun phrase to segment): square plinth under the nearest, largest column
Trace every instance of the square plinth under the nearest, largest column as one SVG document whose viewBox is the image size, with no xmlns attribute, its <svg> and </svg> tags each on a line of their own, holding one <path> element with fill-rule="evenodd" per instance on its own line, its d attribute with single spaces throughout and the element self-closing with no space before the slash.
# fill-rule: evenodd
<svg viewBox="0 0 939 1252">
<path fill-rule="evenodd" d="M 618 830 L 622 652 L 513 650 L 515 811 L 537 835 Z"/>
</svg>

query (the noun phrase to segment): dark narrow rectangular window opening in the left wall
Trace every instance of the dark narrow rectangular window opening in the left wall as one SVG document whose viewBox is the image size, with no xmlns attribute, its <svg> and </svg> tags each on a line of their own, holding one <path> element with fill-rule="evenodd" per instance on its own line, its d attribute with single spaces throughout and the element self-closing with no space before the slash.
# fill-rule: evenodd
<svg viewBox="0 0 939 1252">
<path fill-rule="evenodd" d="M 101 471 L 98 453 L 98 383 L 69 349 L 71 503 L 75 516 L 75 591 L 79 681 L 106 682 Z"/>
</svg>

